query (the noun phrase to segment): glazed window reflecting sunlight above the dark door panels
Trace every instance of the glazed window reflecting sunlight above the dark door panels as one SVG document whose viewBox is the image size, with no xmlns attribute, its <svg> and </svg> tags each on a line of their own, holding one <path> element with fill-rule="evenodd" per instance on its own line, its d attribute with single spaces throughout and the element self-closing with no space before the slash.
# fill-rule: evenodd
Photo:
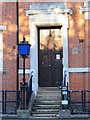
<svg viewBox="0 0 90 120">
<path fill-rule="evenodd" d="M 60 50 L 63 47 L 61 29 L 40 30 L 40 49 L 41 50 Z"/>
</svg>

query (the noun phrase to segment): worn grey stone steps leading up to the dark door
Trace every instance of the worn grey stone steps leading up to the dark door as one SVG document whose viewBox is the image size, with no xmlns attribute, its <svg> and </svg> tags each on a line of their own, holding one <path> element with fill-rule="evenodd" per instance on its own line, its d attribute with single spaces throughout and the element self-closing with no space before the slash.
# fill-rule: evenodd
<svg viewBox="0 0 90 120">
<path fill-rule="evenodd" d="M 32 109 L 32 118 L 56 118 L 60 110 L 60 99 L 59 88 L 40 87 Z"/>
</svg>

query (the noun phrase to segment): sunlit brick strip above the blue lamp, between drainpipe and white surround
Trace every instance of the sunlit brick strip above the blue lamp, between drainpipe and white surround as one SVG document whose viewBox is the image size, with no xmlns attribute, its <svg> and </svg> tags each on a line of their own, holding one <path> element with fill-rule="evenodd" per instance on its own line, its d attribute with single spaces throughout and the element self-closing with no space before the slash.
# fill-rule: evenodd
<svg viewBox="0 0 90 120">
<path fill-rule="evenodd" d="M 29 9 L 29 2 L 20 2 L 19 3 L 19 38 L 22 40 L 23 35 L 25 35 L 26 40 L 30 42 L 30 30 L 29 30 L 29 17 L 26 16 L 24 9 Z"/>
</svg>

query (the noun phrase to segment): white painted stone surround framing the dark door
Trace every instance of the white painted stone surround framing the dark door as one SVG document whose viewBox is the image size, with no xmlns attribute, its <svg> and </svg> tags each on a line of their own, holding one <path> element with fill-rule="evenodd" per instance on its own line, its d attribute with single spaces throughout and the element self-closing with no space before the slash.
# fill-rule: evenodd
<svg viewBox="0 0 90 120">
<path fill-rule="evenodd" d="M 67 82 L 69 82 L 69 72 L 68 69 L 68 13 L 72 13 L 70 9 L 62 9 L 62 11 L 57 8 L 55 12 L 48 12 L 47 10 L 27 10 L 26 15 L 29 16 L 30 20 L 30 62 L 31 70 L 33 70 L 33 90 L 37 93 L 38 90 L 38 35 L 37 28 L 40 26 L 62 26 L 62 39 L 63 39 L 63 73 L 64 70 L 67 74 Z"/>
</svg>

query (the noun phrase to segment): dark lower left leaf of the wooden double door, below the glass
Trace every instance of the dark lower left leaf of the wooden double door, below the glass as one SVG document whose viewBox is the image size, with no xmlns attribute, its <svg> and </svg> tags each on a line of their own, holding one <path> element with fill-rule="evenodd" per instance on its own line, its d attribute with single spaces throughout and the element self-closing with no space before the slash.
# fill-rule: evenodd
<svg viewBox="0 0 90 120">
<path fill-rule="evenodd" d="M 49 67 L 49 52 L 40 50 L 39 54 L 39 81 L 40 81 L 40 86 L 49 86 L 50 85 L 50 67 Z"/>
</svg>

